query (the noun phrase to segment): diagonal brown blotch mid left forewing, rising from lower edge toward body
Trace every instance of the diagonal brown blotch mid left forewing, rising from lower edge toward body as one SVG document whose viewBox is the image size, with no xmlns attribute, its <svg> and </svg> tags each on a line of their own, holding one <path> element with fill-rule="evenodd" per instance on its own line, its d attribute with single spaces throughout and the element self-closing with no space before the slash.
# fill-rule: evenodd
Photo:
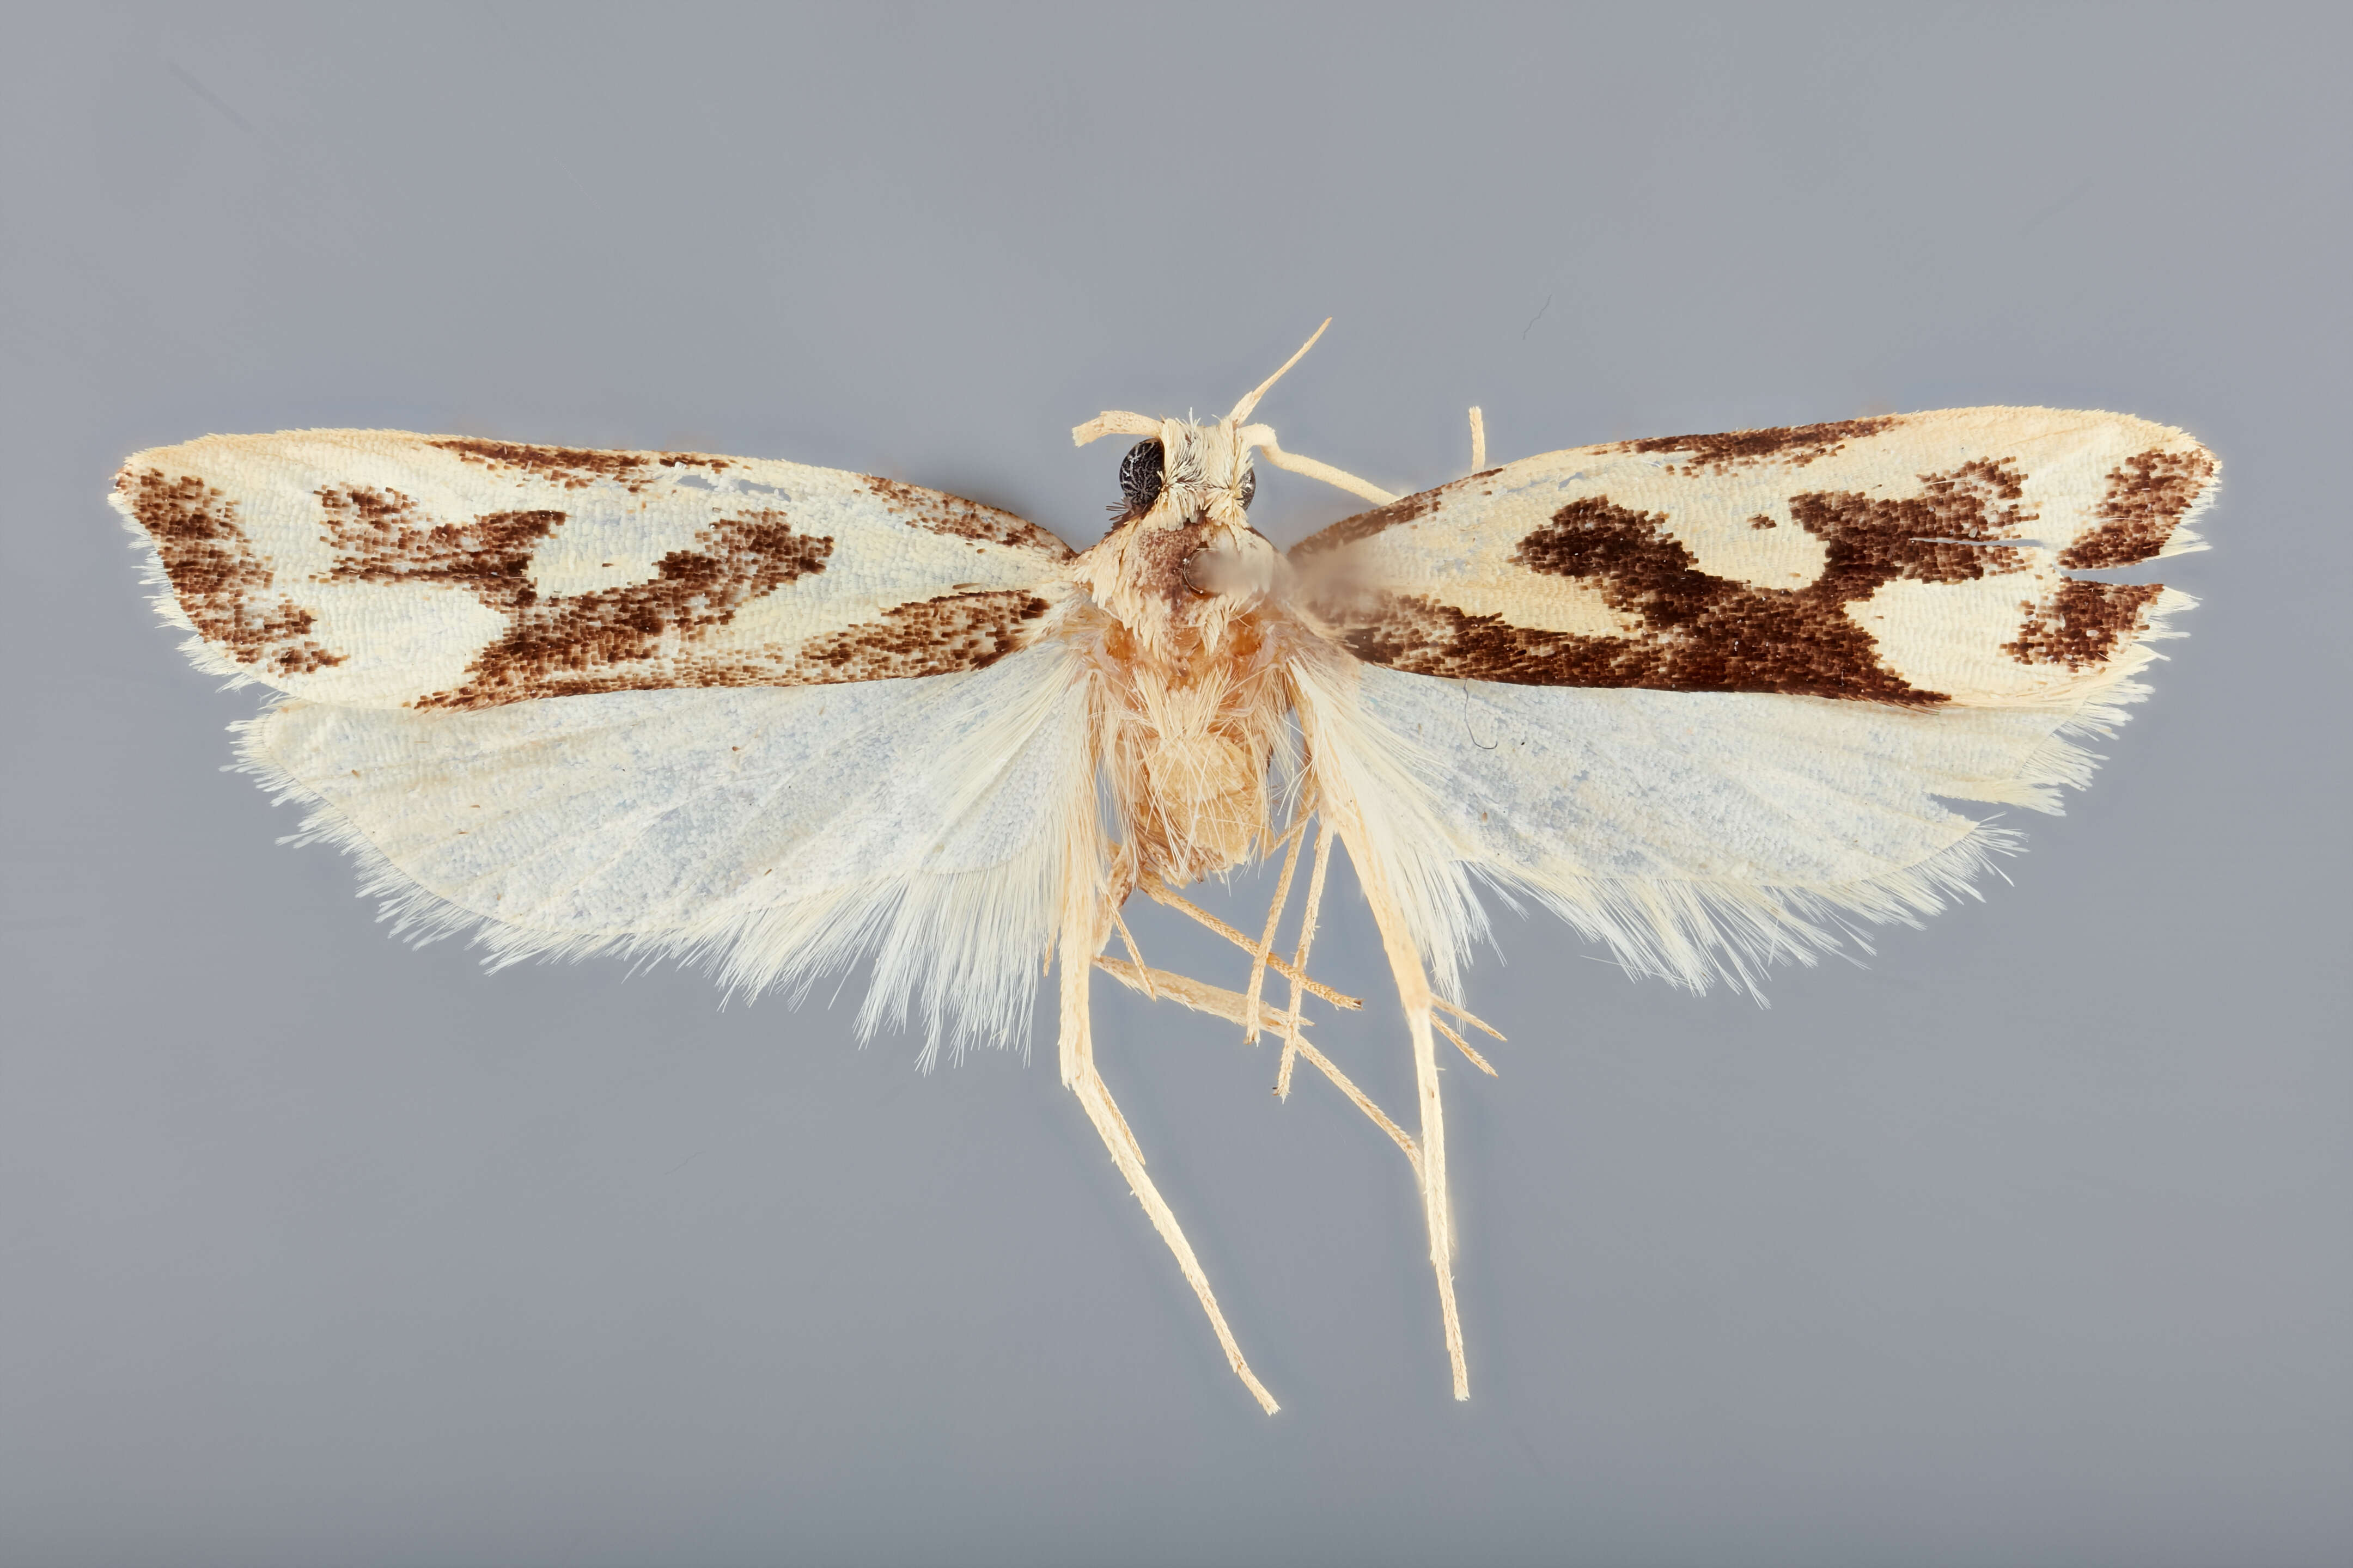
<svg viewBox="0 0 2353 1568">
<path fill-rule="evenodd" d="M 831 538 L 795 534 L 774 510 L 722 517 L 694 538 L 701 550 L 671 550 L 645 583 L 511 604 L 485 595 L 485 604 L 506 609 L 508 632 L 475 656 L 464 686 L 421 696 L 416 708 L 675 686 L 678 670 L 614 665 L 647 661 L 666 639 L 727 625 L 744 604 L 824 571 L 833 555 Z M 767 679 L 776 679 L 774 668 Z"/>
</svg>

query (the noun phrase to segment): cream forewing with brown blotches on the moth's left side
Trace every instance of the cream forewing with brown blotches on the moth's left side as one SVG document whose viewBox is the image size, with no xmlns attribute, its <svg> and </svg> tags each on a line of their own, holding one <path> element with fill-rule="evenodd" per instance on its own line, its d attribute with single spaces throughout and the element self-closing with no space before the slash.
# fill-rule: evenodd
<svg viewBox="0 0 2353 1568">
<path fill-rule="evenodd" d="M 346 708 L 974 670 L 1071 555 L 833 468 L 398 430 L 158 447 L 113 503 L 200 668 Z"/>
</svg>

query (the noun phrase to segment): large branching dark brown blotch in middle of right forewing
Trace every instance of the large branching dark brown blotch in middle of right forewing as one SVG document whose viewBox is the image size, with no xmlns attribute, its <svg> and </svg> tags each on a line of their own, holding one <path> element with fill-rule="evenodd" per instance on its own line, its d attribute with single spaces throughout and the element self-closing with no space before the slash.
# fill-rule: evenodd
<svg viewBox="0 0 2353 1568">
<path fill-rule="evenodd" d="M 2002 543 L 2033 522 L 2019 496 L 2021 475 L 2005 463 L 1925 475 L 1922 494 L 1901 501 L 1791 496 L 1791 517 L 1826 545 L 1821 576 L 1805 588 L 1699 571 L 1668 517 L 1588 496 L 1529 531 L 1513 562 L 1595 583 L 1612 609 L 1642 623 L 1640 637 L 1529 630 L 1424 595 L 1377 595 L 1369 609 L 1341 616 L 1341 635 L 1358 658 L 1414 675 L 1934 705 L 1946 696 L 1882 665 L 1847 604 L 1897 578 L 1969 583 L 2024 571 L 2026 552 Z"/>
</svg>

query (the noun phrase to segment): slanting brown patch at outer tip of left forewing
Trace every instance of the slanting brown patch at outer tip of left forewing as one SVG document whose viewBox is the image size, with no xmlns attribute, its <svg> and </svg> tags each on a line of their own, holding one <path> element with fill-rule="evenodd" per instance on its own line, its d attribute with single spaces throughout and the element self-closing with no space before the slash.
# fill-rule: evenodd
<svg viewBox="0 0 2353 1568">
<path fill-rule="evenodd" d="M 273 675 L 311 675 L 344 663 L 313 639 L 315 616 L 275 590 L 275 578 L 238 527 L 238 503 L 195 475 L 122 473 L 132 515 L 155 541 L 172 595 L 207 642 Z"/>
</svg>

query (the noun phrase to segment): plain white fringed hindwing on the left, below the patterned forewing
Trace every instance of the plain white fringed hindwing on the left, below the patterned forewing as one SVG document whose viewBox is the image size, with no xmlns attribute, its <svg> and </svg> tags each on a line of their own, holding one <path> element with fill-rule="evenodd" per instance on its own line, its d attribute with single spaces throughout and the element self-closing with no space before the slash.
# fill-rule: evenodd
<svg viewBox="0 0 2353 1568">
<path fill-rule="evenodd" d="M 866 1020 L 913 1001 L 934 1041 L 1021 1034 L 1094 809 L 1085 679 L 1052 642 L 929 679 L 289 701 L 240 729 L 402 929 L 696 957 L 751 990 L 873 952 Z"/>
</svg>

